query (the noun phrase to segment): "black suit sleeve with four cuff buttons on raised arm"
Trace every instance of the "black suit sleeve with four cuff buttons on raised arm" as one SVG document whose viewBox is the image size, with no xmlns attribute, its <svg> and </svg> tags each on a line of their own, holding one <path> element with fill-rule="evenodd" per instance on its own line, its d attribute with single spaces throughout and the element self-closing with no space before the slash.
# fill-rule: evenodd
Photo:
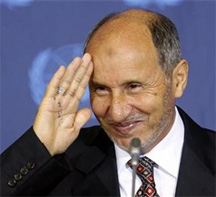
<svg viewBox="0 0 216 197">
<path fill-rule="evenodd" d="M 1 155 L 1 196 L 45 196 L 70 171 L 64 154 L 51 157 L 30 128 Z"/>
</svg>

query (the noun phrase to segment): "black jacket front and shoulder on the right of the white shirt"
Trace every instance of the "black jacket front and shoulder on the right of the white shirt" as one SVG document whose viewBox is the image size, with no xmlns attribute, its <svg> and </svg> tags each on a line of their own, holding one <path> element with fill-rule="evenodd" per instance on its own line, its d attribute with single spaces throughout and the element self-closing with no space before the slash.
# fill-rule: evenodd
<svg viewBox="0 0 216 197">
<path fill-rule="evenodd" d="M 185 126 L 185 139 L 176 196 L 214 196 L 215 136 L 210 136 L 181 109 L 179 112 Z"/>
</svg>

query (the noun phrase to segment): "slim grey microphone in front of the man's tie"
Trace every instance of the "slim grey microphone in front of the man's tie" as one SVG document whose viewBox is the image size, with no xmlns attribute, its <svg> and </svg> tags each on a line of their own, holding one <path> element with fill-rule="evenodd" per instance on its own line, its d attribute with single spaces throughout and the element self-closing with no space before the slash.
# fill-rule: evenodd
<svg viewBox="0 0 216 197">
<path fill-rule="evenodd" d="M 141 141 L 139 138 L 133 138 L 130 142 L 129 153 L 131 155 L 132 165 L 132 197 L 135 194 L 135 178 L 136 178 L 136 167 L 139 163 L 139 156 L 141 154 Z"/>
</svg>

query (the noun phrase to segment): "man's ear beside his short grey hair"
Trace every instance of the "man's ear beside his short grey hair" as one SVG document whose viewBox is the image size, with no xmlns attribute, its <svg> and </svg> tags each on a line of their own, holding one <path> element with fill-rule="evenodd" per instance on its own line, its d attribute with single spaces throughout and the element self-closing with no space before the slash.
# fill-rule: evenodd
<svg viewBox="0 0 216 197">
<path fill-rule="evenodd" d="M 188 63 L 185 59 L 181 60 L 174 68 L 172 73 L 172 87 L 175 98 L 183 95 L 188 79 Z"/>
</svg>

